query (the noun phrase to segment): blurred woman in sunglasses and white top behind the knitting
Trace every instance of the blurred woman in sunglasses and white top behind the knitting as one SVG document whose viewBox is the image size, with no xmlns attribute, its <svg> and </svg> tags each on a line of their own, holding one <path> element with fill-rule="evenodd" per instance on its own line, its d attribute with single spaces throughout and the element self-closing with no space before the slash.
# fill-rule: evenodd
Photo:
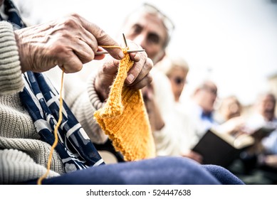
<svg viewBox="0 0 277 199">
<path fill-rule="evenodd" d="M 174 95 L 174 107 L 172 107 L 174 109 L 174 120 L 172 120 L 174 131 L 169 134 L 172 136 L 170 139 L 174 140 L 172 145 L 175 149 L 174 155 L 181 154 L 202 163 L 202 156 L 191 150 L 195 144 L 196 129 L 184 110 L 184 102 L 179 100 L 187 82 L 189 65 L 182 57 L 167 55 L 156 67 L 169 78 Z M 163 141 L 166 142 L 166 138 Z"/>
</svg>

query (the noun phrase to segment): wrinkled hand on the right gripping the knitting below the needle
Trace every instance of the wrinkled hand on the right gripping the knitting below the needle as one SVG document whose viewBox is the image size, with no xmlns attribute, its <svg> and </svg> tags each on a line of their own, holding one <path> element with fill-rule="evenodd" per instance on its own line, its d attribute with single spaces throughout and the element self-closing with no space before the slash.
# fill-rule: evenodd
<svg viewBox="0 0 277 199">
<path fill-rule="evenodd" d="M 129 41 L 128 45 L 130 49 L 142 49 L 140 46 Z M 125 85 L 130 86 L 136 90 L 145 87 L 152 82 L 152 76 L 150 70 L 153 67 L 152 60 L 147 58 L 145 52 L 130 53 L 131 60 L 134 60 L 134 65 L 128 71 Z M 120 60 L 109 58 L 100 68 L 98 74 L 95 77 L 95 91 L 98 93 L 100 99 L 105 101 L 110 92 L 110 86 L 113 83 L 115 75 L 117 74 Z"/>
</svg>

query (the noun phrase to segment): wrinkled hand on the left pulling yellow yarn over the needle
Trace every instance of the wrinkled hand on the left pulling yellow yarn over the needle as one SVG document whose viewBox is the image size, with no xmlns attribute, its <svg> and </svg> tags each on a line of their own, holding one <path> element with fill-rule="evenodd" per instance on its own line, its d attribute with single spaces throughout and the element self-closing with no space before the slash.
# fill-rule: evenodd
<svg viewBox="0 0 277 199">
<path fill-rule="evenodd" d="M 118 45 L 101 28 L 78 14 L 15 31 L 22 72 L 43 72 L 58 65 L 65 72 L 78 72 L 84 63 L 103 59 L 95 55 L 98 45 Z M 106 49 L 122 59 L 120 48 Z"/>
</svg>

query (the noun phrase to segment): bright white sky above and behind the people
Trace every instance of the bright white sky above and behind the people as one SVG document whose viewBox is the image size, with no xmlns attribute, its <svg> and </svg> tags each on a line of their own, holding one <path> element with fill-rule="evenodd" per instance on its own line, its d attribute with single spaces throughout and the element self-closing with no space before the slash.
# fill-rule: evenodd
<svg viewBox="0 0 277 199">
<path fill-rule="evenodd" d="M 31 23 L 77 12 L 116 37 L 123 19 L 144 0 L 17 0 Z M 219 97 L 237 95 L 250 104 L 266 78 L 277 74 L 277 3 L 274 0 L 149 0 L 176 25 L 169 53 L 191 68 L 188 92 L 209 75 Z M 276 2 L 276 1 L 275 1 Z"/>
</svg>

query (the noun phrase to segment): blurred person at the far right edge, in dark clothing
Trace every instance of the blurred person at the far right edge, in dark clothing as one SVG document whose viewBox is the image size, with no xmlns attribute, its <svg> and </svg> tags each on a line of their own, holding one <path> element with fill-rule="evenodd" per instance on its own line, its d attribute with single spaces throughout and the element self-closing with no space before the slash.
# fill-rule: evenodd
<svg viewBox="0 0 277 199">
<path fill-rule="evenodd" d="M 247 184 L 277 183 L 277 119 L 275 116 L 276 97 L 271 92 L 258 95 L 253 105 L 254 112 L 246 118 L 246 133 L 267 127 L 275 129 L 265 135 L 254 136 L 255 144 L 241 153 L 229 170 L 236 173 Z"/>
</svg>

